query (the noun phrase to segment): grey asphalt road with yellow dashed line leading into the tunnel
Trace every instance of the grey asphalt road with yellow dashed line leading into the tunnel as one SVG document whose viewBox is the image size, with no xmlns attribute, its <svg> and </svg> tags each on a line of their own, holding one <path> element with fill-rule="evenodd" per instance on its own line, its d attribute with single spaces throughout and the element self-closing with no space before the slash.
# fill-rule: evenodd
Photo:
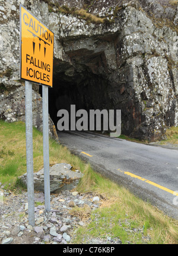
<svg viewBox="0 0 178 256">
<path fill-rule="evenodd" d="M 59 132 L 59 141 L 94 170 L 178 219 L 178 150 L 92 132 Z"/>
</svg>

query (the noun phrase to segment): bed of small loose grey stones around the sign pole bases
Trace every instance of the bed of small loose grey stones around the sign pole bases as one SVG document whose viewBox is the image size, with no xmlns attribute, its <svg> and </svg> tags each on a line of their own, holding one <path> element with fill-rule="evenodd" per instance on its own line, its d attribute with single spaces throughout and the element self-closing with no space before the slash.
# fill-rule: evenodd
<svg viewBox="0 0 178 256">
<path fill-rule="evenodd" d="M 69 210 L 84 205 L 94 210 L 101 202 L 98 196 L 92 194 L 61 191 L 59 194 L 51 195 L 51 210 L 47 213 L 44 193 L 35 192 L 35 226 L 32 227 L 28 224 L 27 192 L 14 195 L 4 191 L 4 198 L 0 211 L 1 244 L 69 243 L 74 227 L 84 226 L 86 221 L 90 221 L 72 216 Z"/>
</svg>

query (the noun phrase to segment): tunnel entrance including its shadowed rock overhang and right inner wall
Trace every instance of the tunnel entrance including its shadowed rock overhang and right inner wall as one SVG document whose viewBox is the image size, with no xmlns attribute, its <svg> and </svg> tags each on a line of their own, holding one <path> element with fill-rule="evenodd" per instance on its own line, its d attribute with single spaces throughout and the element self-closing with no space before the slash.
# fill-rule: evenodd
<svg viewBox="0 0 178 256">
<path fill-rule="evenodd" d="M 53 88 L 49 88 L 49 114 L 57 131 L 58 111 L 70 113 L 71 105 L 88 113 L 121 110 L 125 135 L 140 125 L 141 107 L 132 88 L 131 65 L 117 60 L 118 38 L 107 35 L 63 42 L 65 60 L 54 59 Z"/>
</svg>

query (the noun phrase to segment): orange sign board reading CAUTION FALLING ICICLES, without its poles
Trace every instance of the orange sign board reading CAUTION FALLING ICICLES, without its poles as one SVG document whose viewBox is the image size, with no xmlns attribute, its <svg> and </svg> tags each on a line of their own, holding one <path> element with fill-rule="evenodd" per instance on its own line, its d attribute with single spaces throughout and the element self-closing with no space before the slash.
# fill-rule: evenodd
<svg viewBox="0 0 178 256">
<path fill-rule="evenodd" d="M 20 79 L 52 87 L 54 33 L 20 5 Z"/>
</svg>

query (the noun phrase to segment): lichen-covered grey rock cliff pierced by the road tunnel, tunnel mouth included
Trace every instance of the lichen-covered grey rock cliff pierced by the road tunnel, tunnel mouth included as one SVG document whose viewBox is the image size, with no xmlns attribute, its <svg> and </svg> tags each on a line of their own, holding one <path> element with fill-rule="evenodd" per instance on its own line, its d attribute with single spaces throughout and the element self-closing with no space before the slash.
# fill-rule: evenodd
<svg viewBox="0 0 178 256">
<path fill-rule="evenodd" d="M 54 82 L 49 89 L 49 113 L 55 124 L 58 110 L 75 104 L 77 109 L 122 110 L 122 133 L 148 141 L 163 138 L 167 126 L 177 126 L 178 9 L 166 0 L 122 5 L 116 0 L 5 1 L 0 5 L 1 118 L 24 118 L 24 111 L 7 102 L 23 91 L 20 2 L 55 33 Z M 77 12 L 81 8 L 82 13 Z M 34 90 L 39 97 L 34 125 L 41 127 L 36 111 L 41 110 L 41 89 Z M 14 98 L 14 105 L 19 103 L 23 104 L 21 99 Z"/>
</svg>

